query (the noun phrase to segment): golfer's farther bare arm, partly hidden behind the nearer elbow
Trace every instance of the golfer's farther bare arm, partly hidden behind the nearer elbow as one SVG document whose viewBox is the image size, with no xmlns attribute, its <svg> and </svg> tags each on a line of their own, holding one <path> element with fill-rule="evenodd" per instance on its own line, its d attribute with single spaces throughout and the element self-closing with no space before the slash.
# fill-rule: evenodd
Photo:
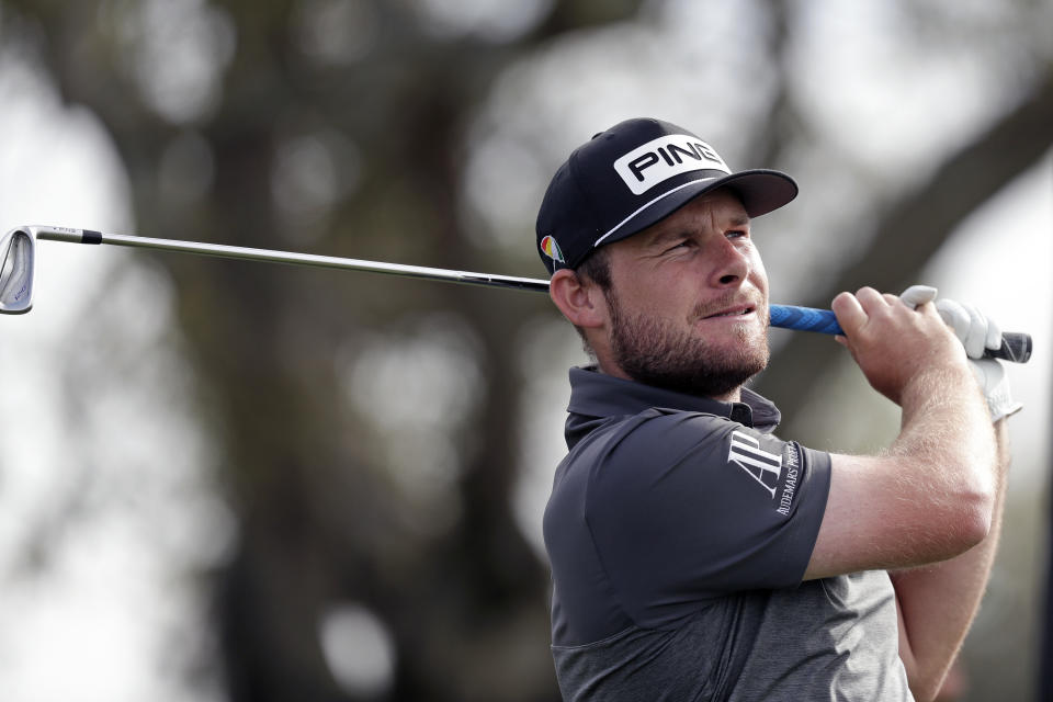
<svg viewBox="0 0 1053 702">
<path fill-rule="evenodd" d="M 995 424 L 995 433 L 999 482 L 987 537 L 950 561 L 890 574 L 899 613 L 899 657 L 918 700 L 939 692 L 980 609 L 995 562 L 1010 462 L 1004 419 Z"/>
</svg>

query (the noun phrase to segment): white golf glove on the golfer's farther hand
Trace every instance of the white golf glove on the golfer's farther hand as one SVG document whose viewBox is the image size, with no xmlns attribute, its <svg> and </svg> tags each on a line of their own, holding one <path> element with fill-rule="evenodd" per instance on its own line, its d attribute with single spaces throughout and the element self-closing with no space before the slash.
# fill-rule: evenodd
<svg viewBox="0 0 1053 702">
<path fill-rule="evenodd" d="M 927 285 L 912 285 L 899 298 L 912 307 L 917 307 L 936 299 L 936 288 Z M 984 358 L 986 349 L 995 350 L 1001 347 L 1001 330 L 998 325 L 972 305 L 963 305 L 953 299 L 936 301 L 936 310 L 965 347 L 965 355 L 969 356 L 973 375 L 976 376 L 984 397 L 987 398 L 992 421 L 998 421 L 1020 411 L 1023 405 L 1012 399 L 1009 393 L 1009 378 L 1006 377 L 1006 370 L 1001 363 L 995 359 Z"/>
</svg>

